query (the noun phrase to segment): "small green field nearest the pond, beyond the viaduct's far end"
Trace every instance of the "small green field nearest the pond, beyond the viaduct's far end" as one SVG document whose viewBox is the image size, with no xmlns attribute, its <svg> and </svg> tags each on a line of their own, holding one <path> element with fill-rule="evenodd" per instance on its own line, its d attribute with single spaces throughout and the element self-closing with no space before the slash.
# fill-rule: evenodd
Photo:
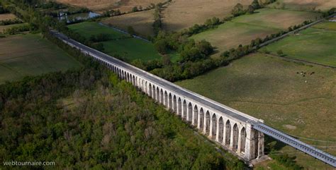
<svg viewBox="0 0 336 170">
<path fill-rule="evenodd" d="M 99 35 L 100 33 L 111 35 L 113 38 L 125 37 L 123 32 L 118 32 L 109 28 L 108 26 L 99 25 L 95 22 L 83 22 L 69 25 L 68 28 L 74 32 L 78 32 L 80 35 L 89 38 L 91 35 Z"/>
</svg>

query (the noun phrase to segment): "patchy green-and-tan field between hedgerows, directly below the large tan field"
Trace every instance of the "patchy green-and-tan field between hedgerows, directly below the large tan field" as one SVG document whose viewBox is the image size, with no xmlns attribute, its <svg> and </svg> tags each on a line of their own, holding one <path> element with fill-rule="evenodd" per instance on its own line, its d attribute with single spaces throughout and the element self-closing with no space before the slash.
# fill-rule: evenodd
<svg viewBox="0 0 336 170">
<path fill-rule="evenodd" d="M 262 8 L 252 15 L 239 16 L 191 38 L 205 39 L 217 47 L 218 51 L 225 51 L 239 44 L 250 44 L 251 40 L 264 38 L 291 25 L 301 24 L 304 20 L 315 20 L 318 16 L 318 13 Z"/>
</svg>

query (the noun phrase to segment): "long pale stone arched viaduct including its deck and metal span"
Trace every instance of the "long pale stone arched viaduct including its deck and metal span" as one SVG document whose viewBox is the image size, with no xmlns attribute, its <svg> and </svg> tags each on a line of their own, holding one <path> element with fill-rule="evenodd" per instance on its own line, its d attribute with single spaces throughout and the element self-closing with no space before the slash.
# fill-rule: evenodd
<svg viewBox="0 0 336 170">
<path fill-rule="evenodd" d="M 146 95 L 163 104 L 208 138 L 234 152 L 245 161 L 264 155 L 265 133 L 327 164 L 336 166 L 334 156 L 281 133 L 279 130 L 265 125 L 262 120 L 226 107 L 156 75 L 142 71 L 140 68 L 86 47 L 59 32 L 51 31 L 51 33 L 63 42 L 79 49 L 86 56 L 103 64 L 116 73 L 119 78 L 132 83 L 138 90 L 145 92 Z"/>
</svg>

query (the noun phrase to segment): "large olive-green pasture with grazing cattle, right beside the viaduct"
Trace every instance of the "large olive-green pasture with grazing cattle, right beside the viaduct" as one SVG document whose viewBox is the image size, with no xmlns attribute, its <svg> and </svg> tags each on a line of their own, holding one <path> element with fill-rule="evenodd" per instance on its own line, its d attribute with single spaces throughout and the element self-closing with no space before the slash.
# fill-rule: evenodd
<svg viewBox="0 0 336 170">
<path fill-rule="evenodd" d="M 306 75 L 303 77 L 301 72 Z M 286 133 L 336 141 L 335 69 L 252 54 L 177 85 L 264 119 L 269 126 Z M 281 150 L 296 152 L 291 147 Z M 336 150 L 328 151 L 336 154 Z M 298 162 L 307 167 L 326 167 L 301 152 L 297 156 Z"/>
</svg>

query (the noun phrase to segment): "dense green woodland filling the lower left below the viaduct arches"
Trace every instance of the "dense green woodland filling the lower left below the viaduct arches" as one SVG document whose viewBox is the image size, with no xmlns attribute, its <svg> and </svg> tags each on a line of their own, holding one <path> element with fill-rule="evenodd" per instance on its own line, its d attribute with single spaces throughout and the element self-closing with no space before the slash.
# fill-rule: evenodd
<svg viewBox="0 0 336 170">
<path fill-rule="evenodd" d="M 46 37 L 84 66 L 0 85 L 1 162 L 54 161 L 57 169 L 244 168 L 130 83 Z"/>
</svg>

